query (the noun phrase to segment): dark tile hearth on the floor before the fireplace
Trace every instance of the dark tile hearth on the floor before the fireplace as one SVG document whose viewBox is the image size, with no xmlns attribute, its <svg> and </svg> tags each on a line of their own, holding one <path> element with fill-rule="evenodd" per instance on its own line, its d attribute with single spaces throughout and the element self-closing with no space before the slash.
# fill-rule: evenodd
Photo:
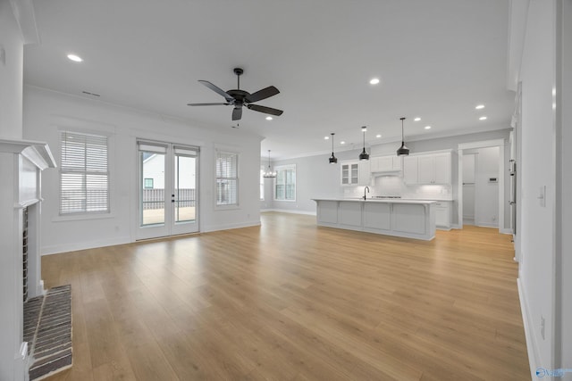
<svg viewBox="0 0 572 381">
<path fill-rule="evenodd" d="M 71 286 L 51 288 L 24 303 L 24 341 L 33 363 L 29 379 L 71 367 Z"/>
</svg>

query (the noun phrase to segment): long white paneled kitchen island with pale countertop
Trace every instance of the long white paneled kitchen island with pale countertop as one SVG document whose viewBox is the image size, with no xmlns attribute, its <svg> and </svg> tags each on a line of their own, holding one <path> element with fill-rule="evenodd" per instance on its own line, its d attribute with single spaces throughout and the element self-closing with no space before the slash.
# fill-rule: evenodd
<svg viewBox="0 0 572 381">
<path fill-rule="evenodd" d="M 350 198 L 313 200 L 316 203 L 319 226 L 425 241 L 435 237 L 434 201 Z"/>
</svg>

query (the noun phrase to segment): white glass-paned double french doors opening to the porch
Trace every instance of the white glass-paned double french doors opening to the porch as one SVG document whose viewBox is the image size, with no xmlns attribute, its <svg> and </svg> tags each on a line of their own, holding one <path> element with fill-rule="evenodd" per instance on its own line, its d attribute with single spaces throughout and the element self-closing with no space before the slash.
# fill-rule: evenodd
<svg viewBox="0 0 572 381">
<path fill-rule="evenodd" d="M 198 232 L 198 147 L 138 141 L 137 239 Z"/>
</svg>

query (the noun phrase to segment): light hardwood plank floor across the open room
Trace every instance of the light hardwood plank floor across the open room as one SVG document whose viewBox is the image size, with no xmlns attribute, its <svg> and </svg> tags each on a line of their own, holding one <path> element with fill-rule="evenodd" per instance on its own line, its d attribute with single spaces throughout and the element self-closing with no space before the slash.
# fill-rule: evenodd
<svg viewBox="0 0 572 381">
<path fill-rule="evenodd" d="M 42 258 L 71 284 L 55 380 L 530 379 L 510 236 L 262 226 Z"/>
</svg>

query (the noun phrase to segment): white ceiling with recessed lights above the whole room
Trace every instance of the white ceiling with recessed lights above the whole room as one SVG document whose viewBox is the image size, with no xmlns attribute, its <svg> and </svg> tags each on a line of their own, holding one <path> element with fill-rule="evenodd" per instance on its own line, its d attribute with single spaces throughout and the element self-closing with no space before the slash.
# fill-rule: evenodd
<svg viewBox="0 0 572 381">
<path fill-rule="evenodd" d="M 508 128 L 509 0 L 35 0 L 40 45 L 24 82 L 225 130 L 231 106 L 198 83 L 281 94 L 240 130 L 273 158 L 328 152 L 336 133 L 369 144 Z M 75 63 L 66 54 L 80 55 Z M 372 86 L 369 79 L 381 79 Z M 485 104 L 482 111 L 476 104 Z M 478 120 L 482 115 L 487 120 Z M 414 122 L 414 117 L 422 120 Z M 425 130 L 426 125 L 432 128 Z M 376 134 L 382 134 L 376 139 Z M 396 149 L 399 145 L 396 144 Z M 336 148 L 338 149 L 338 148 Z"/>
</svg>

